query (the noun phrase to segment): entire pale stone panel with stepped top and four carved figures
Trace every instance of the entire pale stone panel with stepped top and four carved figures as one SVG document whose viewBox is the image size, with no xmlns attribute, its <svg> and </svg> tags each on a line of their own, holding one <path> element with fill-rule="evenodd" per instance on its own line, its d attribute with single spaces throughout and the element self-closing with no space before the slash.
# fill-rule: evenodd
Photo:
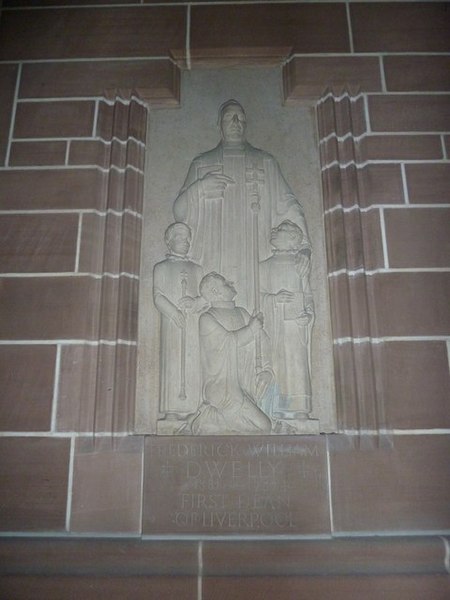
<svg viewBox="0 0 450 600">
<path fill-rule="evenodd" d="M 335 431 L 314 106 L 280 68 L 181 83 L 149 115 L 135 431 Z"/>
</svg>

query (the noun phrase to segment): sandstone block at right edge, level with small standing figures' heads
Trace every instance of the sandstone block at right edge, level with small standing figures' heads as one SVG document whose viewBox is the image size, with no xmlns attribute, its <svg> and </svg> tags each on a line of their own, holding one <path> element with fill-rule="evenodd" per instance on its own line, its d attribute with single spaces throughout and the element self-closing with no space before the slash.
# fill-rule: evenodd
<svg viewBox="0 0 450 600">
<path fill-rule="evenodd" d="M 384 212 L 390 268 L 445 268 L 450 263 L 450 208 Z"/>
</svg>

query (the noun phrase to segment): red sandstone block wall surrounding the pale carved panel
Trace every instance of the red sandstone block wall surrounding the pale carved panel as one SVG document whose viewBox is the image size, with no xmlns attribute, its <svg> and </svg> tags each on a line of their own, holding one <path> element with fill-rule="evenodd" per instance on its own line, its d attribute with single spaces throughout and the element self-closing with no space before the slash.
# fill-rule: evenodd
<svg viewBox="0 0 450 600">
<path fill-rule="evenodd" d="M 140 533 L 142 439 L 105 438 L 94 448 L 91 437 L 73 433 L 130 426 L 138 283 L 132 240 L 139 236 L 145 132 L 133 106 L 142 112 L 140 101 L 176 104 L 171 55 L 192 67 L 290 55 L 286 101 L 323 99 L 319 133 L 341 424 L 395 430 L 393 446 L 378 450 L 329 436 L 322 473 L 329 533 L 448 533 L 448 5 L 114 4 L 3 2 L 0 529 Z M 21 8 L 31 5 L 35 10 Z M 138 103 L 129 103 L 132 94 Z M 346 94 L 353 101 L 344 107 Z M 124 380 L 131 381 L 125 390 Z M 374 415 L 380 398 L 382 414 Z M 230 582 L 236 599 L 266 597 L 262 590 L 277 599 L 325 598 L 330 590 L 334 598 L 444 598 L 445 576 L 436 574 L 445 570 L 444 545 L 437 538 L 430 544 L 438 556 L 430 568 L 419 542 L 398 550 L 420 555 L 408 563 L 420 575 L 406 579 L 301 577 L 298 566 L 270 567 L 267 550 L 244 574 L 261 574 L 266 564 L 265 573 L 285 577 L 239 581 L 222 577 L 239 575 L 238 566 L 218 566 L 229 564 L 229 549 L 234 554 L 237 546 L 206 544 L 204 573 L 211 578 L 203 598 L 229 597 Z M 165 572 L 119 584 L 100 569 L 92 583 L 82 569 L 85 579 L 54 579 L 53 587 L 27 579 L 26 588 L 10 568 L 5 597 L 56 598 L 60 585 L 86 585 L 84 598 L 150 591 L 196 598 L 198 547 L 184 547 L 192 551 L 179 559 L 189 565 L 179 571 L 190 575 L 186 580 L 168 582 Z M 101 552 L 91 548 L 97 564 Z M 3 550 L 9 561 L 10 549 Z M 249 549 L 242 562 L 256 551 Z M 24 552 L 13 556 L 23 559 Z M 162 564 L 174 552 L 171 546 Z M 298 565 L 300 546 L 289 552 Z M 350 554 L 348 564 L 361 552 Z M 73 552 L 68 556 L 72 561 Z"/>
</svg>

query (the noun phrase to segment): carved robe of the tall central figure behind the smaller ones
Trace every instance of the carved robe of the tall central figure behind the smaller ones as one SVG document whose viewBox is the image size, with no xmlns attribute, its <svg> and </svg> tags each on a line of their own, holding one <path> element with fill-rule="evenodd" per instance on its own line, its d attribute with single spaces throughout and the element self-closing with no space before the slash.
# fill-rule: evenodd
<svg viewBox="0 0 450 600">
<path fill-rule="evenodd" d="M 231 177 L 223 198 L 210 199 L 202 193 L 199 181 L 208 173 Z M 197 185 L 196 185 L 197 184 Z M 305 248 L 309 238 L 303 209 L 286 183 L 274 157 L 248 142 L 216 148 L 196 157 L 174 203 L 177 221 L 192 230 L 191 255 L 205 273 L 216 271 L 235 283 L 237 303 L 250 312 L 255 307 L 253 250 L 253 211 L 255 192 L 260 197 L 259 256 L 270 255 L 270 231 L 284 219 L 302 229 Z M 177 204 L 187 203 L 184 217 Z"/>
</svg>

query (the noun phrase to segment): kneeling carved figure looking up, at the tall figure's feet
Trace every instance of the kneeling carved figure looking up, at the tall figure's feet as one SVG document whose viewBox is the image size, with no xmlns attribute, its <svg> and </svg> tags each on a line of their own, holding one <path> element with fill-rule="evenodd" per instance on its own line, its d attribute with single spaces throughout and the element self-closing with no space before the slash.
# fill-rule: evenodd
<svg viewBox="0 0 450 600">
<path fill-rule="evenodd" d="M 255 401 L 255 336 L 263 316 L 236 306 L 233 284 L 218 273 L 205 275 L 200 293 L 211 307 L 199 321 L 203 402 L 191 431 L 270 433 L 271 420 Z"/>
</svg>

